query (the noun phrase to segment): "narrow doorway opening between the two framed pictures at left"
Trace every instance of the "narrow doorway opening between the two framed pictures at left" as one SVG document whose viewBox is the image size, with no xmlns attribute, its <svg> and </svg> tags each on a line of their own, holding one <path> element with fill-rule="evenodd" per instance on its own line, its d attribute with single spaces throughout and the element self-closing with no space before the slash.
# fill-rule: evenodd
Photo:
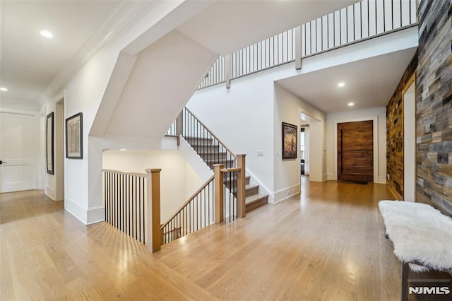
<svg viewBox="0 0 452 301">
<path fill-rule="evenodd" d="M 64 201 L 64 98 L 55 106 L 55 201 Z"/>
</svg>

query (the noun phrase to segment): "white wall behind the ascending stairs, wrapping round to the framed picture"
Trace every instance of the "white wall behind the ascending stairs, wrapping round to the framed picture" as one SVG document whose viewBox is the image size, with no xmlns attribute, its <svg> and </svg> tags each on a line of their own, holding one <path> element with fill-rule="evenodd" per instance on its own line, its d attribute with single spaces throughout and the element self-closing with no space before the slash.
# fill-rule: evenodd
<svg viewBox="0 0 452 301">
<path fill-rule="evenodd" d="M 284 76 L 281 68 L 262 71 L 233 81 L 232 88 L 215 85 L 198 90 L 186 105 L 208 129 L 234 153 L 246 154 L 246 169 L 258 184 L 277 202 L 299 192 L 299 159 L 282 160 L 281 123 L 300 124 L 300 112 L 321 120 L 314 134 L 319 143 L 311 145 L 323 150 L 325 114 L 290 91 L 275 83 Z M 323 155 L 311 159 L 314 180 L 323 180 Z M 263 151 L 258 156 L 257 151 Z M 316 173 L 315 171 L 318 170 Z M 318 174 L 318 176 L 317 176 Z"/>
</svg>

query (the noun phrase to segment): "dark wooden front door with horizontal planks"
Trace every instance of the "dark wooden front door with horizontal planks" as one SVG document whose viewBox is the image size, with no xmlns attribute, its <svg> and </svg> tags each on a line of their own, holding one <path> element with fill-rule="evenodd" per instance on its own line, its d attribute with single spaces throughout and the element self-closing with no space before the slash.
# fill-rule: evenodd
<svg viewBox="0 0 452 301">
<path fill-rule="evenodd" d="M 338 180 L 374 182 L 374 122 L 338 124 Z"/>
</svg>

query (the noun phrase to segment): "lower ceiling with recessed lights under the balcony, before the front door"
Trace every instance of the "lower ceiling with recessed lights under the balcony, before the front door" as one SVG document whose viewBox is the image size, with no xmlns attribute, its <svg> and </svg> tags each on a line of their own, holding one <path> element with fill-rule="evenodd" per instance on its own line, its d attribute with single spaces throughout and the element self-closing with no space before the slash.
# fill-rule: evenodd
<svg viewBox="0 0 452 301">
<path fill-rule="evenodd" d="M 416 48 L 277 81 L 325 113 L 386 107 Z M 338 83 L 345 83 L 339 88 Z M 352 107 L 349 102 L 354 102 Z"/>
</svg>

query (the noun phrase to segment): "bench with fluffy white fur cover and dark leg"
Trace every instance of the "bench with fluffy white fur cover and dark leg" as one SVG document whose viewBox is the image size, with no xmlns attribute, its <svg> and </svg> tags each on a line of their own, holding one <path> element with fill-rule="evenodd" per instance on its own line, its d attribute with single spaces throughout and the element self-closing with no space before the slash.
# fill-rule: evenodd
<svg viewBox="0 0 452 301">
<path fill-rule="evenodd" d="M 408 300 L 408 273 L 452 272 L 452 218 L 424 203 L 380 201 L 386 238 L 402 262 L 402 300 Z"/>
</svg>

